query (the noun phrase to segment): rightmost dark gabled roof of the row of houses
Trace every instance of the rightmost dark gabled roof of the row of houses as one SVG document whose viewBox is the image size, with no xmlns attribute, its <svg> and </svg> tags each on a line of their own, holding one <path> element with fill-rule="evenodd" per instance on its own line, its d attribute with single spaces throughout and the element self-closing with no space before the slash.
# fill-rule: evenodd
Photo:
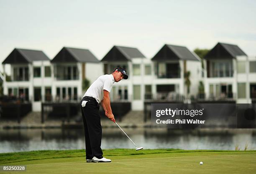
<svg viewBox="0 0 256 174">
<path fill-rule="evenodd" d="M 236 58 L 238 55 L 246 55 L 237 45 L 228 43 L 217 43 L 207 55 L 205 59 L 218 59 L 218 58 Z"/>
</svg>

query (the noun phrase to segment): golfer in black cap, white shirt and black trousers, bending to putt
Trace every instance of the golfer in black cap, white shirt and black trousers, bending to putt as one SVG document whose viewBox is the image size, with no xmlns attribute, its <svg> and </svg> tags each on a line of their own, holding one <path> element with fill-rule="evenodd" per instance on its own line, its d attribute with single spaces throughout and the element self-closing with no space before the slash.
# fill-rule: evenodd
<svg viewBox="0 0 256 174">
<path fill-rule="evenodd" d="M 112 74 L 106 74 L 97 78 L 85 92 L 80 102 L 84 121 L 84 136 L 87 162 L 111 162 L 104 158 L 101 150 L 102 128 L 100 124 L 99 103 L 101 103 L 105 116 L 114 121 L 114 115 L 110 106 L 109 93 L 115 82 L 127 79 L 125 69 L 115 68 Z"/>
</svg>

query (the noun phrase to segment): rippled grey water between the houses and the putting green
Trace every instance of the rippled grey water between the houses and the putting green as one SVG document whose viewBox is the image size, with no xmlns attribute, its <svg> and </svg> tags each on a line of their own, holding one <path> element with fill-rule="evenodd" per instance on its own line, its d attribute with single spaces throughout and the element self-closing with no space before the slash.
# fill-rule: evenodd
<svg viewBox="0 0 256 174">
<path fill-rule="evenodd" d="M 144 149 L 215 149 L 256 150 L 256 134 L 198 132 L 172 129 L 124 129 L 130 138 Z M 231 131 L 232 132 L 232 131 Z M 255 132 L 255 131 L 254 131 Z M 103 129 L 102 149 L 135 149 L 120 129 Z M 0 130 L 0 153 L 32 150 L 85 149 L 83 129 L 9 129 Z"/>
</svg>

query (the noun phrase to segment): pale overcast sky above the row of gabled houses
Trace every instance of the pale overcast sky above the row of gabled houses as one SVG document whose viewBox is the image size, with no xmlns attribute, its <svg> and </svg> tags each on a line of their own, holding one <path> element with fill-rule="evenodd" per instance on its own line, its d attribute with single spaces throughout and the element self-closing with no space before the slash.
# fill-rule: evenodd
<svg viewBox="0 0 256 174">
<path fill-rule="evenodd" d="M 64 46 L 85 48 L 101 60 L 113 45 L 152 58 L 164 44 L 218 42 L 256 56 L 255 9 L 255 0 L 0 0 L 0 62 L 14 48 L 50 59 Z"/>
</svg>

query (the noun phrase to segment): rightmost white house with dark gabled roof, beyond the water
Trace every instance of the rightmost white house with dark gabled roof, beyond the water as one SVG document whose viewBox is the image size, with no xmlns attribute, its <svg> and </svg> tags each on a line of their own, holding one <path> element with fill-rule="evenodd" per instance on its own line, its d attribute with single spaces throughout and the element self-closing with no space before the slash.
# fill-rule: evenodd
<svg viewBox="0 0 256 174">
<path fill-rule="evenodd" d="M 251 103 L 256 98 L 255 57 L 248 57 L 238 45 L 217 43 L 204 59 L 207 99 Z"/>
</svg>

